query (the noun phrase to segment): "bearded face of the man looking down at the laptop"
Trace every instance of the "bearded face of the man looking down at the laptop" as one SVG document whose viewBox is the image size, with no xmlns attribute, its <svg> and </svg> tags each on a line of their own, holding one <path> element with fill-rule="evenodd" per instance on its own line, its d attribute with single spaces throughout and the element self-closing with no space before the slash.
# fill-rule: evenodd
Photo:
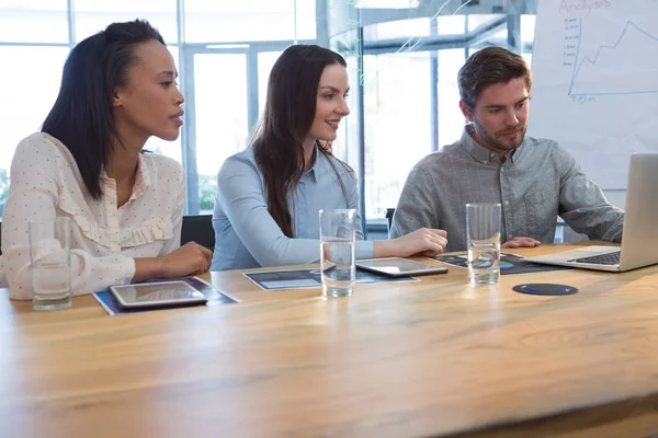
<svg viewBox="0 0 658 438">
<path fill-rule="evenodd" d="M 474 138 L 501 158 L 523 142 L 527 130 L 530 94 L 522 79 L 487 87 L 469 108 L 460 101 L 464 116 L 473 123 Z"/>
</svg>

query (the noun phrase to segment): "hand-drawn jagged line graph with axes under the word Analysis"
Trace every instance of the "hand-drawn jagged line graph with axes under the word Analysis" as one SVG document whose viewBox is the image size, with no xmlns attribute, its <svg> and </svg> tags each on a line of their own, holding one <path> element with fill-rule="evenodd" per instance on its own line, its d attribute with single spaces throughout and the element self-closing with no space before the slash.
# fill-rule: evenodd
<svg viewBox="0 0 658 438">
<path fill-rule="evenodd" d="M 582 20 L 578 23 L 577 61 L 568 95 L 658 93 L 658 37 L 627 21 L 614 44 L 600 45 L 593 57 L 580 59 Z"/>
</svg>

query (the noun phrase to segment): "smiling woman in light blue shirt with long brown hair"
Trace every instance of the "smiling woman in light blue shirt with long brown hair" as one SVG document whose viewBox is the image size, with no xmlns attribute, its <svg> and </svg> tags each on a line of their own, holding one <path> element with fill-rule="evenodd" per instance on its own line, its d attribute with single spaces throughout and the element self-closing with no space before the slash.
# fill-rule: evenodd
<svg viewBox="0 0 658 438">
<path fill-rule="evenodd" d="M 344 59 L 315 45 L 288 47 L 270 73 L 251 147 L 226 160 L 217 178 L 213 270 L 319 260 L 320 209 L 359 208 L 352 169 L 331 154 L 350 114 Z M 364 241 L 356 257 L 436 254 L 445 233 L 422 229 L 393 241 Z"/>
</svg>

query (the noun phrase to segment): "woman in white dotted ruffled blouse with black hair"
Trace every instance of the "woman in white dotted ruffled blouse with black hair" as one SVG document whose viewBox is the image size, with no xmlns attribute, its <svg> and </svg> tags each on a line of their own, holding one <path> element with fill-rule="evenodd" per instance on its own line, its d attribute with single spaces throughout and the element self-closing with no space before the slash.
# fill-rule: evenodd
<svg viewBox="0 0 658 438">
<path fill-rule="evenodd" d="M 32 298 L 27 220 L 70 218 L 75 295 L 207 270 L 211 251 L 179 247 L 181 165 L 143 151 L 150 136 L 179 136 L 175 77 L 145 21 L 111 24 L 71 50 L 42 130 L 19 143 L 11 164 L 0 258 L 11 298 Z"/>
</svg>

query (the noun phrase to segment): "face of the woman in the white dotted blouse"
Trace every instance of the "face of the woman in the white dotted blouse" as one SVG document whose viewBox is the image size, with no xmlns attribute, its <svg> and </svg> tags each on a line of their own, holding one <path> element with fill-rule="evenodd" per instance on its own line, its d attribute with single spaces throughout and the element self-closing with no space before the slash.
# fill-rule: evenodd
<svg viewBox="0 0 658 438">
<path fill-rule="evenodd" d="M 175 140 L 183 125 L 185 101 L 179 91 L 173 57 L 160 43 L 151 41 L 135 48 L 137 62 L 127 70 L 127 87 L 116 89 L 114 114 L 122 139 Z"/>
</svg>

